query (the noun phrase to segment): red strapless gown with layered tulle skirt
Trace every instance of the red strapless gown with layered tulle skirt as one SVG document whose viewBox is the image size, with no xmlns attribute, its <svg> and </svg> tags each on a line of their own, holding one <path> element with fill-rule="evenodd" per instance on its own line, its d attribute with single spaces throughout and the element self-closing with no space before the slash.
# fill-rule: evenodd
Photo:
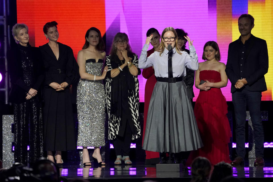
<svg viewBox="0 0 273 182">
<path fill-rule="evenodd" d="M 218 71 L 200 71 L 200 80 L 220 82 L 221 75 Z M 220 88 L 211 88 L 201 91 L 195 102 L 194 114 L 204 146 L 192 151 L 187 165 L 198 156 L 206 157 L 212 165 L 218 162 L 231 162 L 229 159 L 228 143 L 231 130 L 227 117 L 228 105 Z"/>
</svg>

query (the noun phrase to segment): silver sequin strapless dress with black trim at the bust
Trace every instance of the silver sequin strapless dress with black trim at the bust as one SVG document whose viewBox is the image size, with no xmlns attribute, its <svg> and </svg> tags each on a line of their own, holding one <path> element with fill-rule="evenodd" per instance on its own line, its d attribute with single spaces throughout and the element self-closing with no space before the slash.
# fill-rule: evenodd
<svg viewBox="0 0 273 182">
<path fill-rule="evenodd" d="M 86 60 L 86 73 L 101 76 L 103 60 Z M 105 91 L 102 80 L 80 79 L 77 88 L 77 146 L 104 146 Z"/>
</svg>

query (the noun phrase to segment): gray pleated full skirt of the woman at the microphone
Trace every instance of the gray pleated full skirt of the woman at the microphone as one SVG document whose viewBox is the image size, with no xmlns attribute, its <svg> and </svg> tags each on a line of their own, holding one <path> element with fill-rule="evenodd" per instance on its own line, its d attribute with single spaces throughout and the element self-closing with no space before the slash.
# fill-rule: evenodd
<svg viewBox="0 0 273 182">
<path fill-rule="evenodd" d="M 185 83 L 170 83 L 171 152 L 203 146 Z M 168 83 L 156 82 L 149 104 L 142 148 L 169 152 Z"/>
</svg>

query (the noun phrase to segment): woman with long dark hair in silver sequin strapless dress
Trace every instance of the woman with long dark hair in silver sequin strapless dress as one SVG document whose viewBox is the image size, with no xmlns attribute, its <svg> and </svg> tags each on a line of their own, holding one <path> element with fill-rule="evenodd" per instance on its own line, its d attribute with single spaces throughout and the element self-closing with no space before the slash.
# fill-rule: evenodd
<svg viewBox="0 0 273 182">
<path fill-rule="evenodd" d="M 100 155 L 100 146 L 105 145 L 105 91 L 102 72 L 106 57 L 100 30 L 91 27 L 85 34 L 85 44 L 78 52 L 80 80 L 77 88 L 78 146 L 83 146 L 84 166 L 91 166 L 87 146 L 94 146 L 92 157 L 99 165 L 105 165 Z"/>
</svg>

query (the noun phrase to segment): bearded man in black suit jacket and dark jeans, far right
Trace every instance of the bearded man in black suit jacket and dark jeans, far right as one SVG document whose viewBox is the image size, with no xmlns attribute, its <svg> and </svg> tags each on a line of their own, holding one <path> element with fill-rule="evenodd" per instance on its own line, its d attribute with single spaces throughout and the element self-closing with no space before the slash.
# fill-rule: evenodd
<svg viewBox="0 0 273 182">
<path fill-rule="evenodd" d="M 231 82 L 232 103 L 236 120 L 236 153 L 231 165 L 243 165 L 245 157 L 245 119 L 248 106 L 254 128 L 256 160 L 263 165 L 264 130 L 260 115 L 261 92 L 267 90 L 264 75 L 268 71 L 266 41 L 251 34 L 254 18 L 243 14 L 238 18 L 241 36 L 228 47 L 226 74 Z"/>
</svg>

